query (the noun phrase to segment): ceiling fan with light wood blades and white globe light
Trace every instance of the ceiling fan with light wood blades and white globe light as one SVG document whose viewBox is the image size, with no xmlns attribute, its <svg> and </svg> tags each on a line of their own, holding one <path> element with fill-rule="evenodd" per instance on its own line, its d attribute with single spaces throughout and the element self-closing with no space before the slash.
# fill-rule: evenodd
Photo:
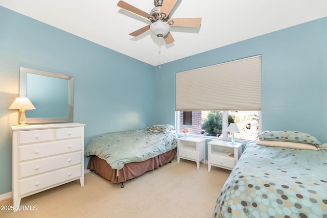
<svg viewBox="0 0 327 218">
<path fill-rule="evenodd" d="M 154 0 L 155 8 L 151 10 L 150 14 L 131 6 L 124 1 L 119 1 L 117 6 L 134 14 L 148 18 L 151 21 L 151 24 L 134 31 L 129 35 L 138 36 L 151 30 L 151 32 L 157 37 L 164 37 L 165 42 L 169 44 L 175 41 L 169 31 L 170 26 L 199 28 L 202 20 L 202 18 L 170 18 L 169 14 L 177 1 L 178 0 Z"/>
</svg>

